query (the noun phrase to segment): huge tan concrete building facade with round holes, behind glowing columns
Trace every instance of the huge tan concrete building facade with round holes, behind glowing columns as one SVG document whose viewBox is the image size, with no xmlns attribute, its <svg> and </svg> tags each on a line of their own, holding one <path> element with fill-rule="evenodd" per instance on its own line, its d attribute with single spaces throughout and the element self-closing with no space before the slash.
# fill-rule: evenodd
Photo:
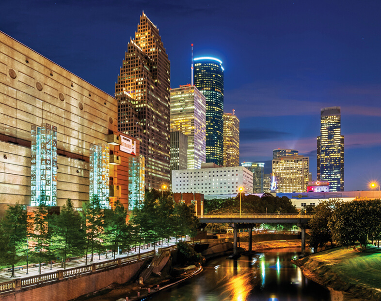
<svg viewBox="0 0 381 301">
<path fill-rule="evenodd" d="M 55 128 L 57 154 L 56 168 L 44 173 L 56 173 L 56 205 L 89 200 L 90 149 L 106 145 L 111 203 L 120 198 L 127 208 L 120 185 L 139 141 L 129 137 L 134 154 L 121 151 L 117 120 L 115 98 L 0 32 L 0 214 L 7 204 L 31 205 L 32 129 L 47 124 Z"/>
</svg>

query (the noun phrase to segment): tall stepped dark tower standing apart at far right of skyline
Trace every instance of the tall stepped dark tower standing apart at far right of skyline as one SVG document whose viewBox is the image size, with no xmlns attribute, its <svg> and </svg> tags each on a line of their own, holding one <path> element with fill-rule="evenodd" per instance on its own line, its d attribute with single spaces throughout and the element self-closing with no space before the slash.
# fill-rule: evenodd
<svg viewBox="0 0 381 301">
<path fill-rule="evenodd" d="M 322 108 L 318 136 L 318 181 L 328 181 L 330 191 L 344 191 L 344 136 L 339 106 Z"/>
</svg>

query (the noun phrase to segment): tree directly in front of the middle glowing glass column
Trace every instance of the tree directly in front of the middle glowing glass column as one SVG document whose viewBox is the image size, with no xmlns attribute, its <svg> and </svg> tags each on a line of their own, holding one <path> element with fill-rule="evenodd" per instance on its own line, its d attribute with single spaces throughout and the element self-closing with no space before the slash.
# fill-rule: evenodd
<svg viewBox="0 0 381 301">
<path fill-rule="evenodd" d="M 100 206 L 98 196 L 93 196 L 89 202 L 83 204 L 82 223 L 85 227 L 85 248 L 86 260 L 89 251 L 91 252 L 90 262 L 94 260 L 94 251 L 102 249 L 104 234 L 104 210 Z"/>
</svg>

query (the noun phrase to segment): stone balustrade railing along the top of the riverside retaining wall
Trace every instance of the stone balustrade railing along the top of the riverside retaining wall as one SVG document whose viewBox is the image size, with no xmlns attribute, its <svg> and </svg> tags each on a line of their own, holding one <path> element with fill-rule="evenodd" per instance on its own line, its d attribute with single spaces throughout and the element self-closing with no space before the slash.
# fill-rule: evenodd
<svg viewBox="0 0 381 301">
<path fill-rule="evenodd" d="M 20 290 L 29 286 L 36 286 L 48 282 L 54 282 L 65 278 L 78 276 L 81 274 L 93 273 L 95 271 L 101 271 L 110 267 L 122 266 L 134 261 L 152 258 L 154 256 L 155 251 L 148 251 L 142 254 L 120 257 L 117 259 L 93 263 L 87 266 L 80 266 L 67 270 L 58 270 L 50 273 L 44 273 L 41 275 L 15 279 L 8 282 L 2 282 L 0 283 L 0 293 Z"/>
</svg>

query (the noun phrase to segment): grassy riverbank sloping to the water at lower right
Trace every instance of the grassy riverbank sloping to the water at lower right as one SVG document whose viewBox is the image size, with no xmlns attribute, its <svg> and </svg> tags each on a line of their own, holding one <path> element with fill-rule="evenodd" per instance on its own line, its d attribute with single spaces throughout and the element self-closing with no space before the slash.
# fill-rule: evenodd
<svg viewBox="0 0 381 301">
<path fill-rule="evenodd" d="M 335 248 L 293 261 L 333 292 L 333 301 L 381 300 L 381 249 Z"/>
</svg>

